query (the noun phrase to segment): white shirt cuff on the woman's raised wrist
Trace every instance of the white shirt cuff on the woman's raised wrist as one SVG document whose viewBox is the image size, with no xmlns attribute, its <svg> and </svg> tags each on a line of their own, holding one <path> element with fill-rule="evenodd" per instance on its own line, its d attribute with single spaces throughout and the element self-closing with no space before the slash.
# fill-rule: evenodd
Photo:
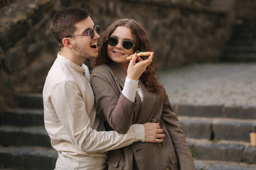
<svg viewBox="0 0 256 170">
<path fill-rule="evenodd" d="M 122 90 L 122 94 L 129 99 L 129 101 L 134 102 L 136 91 L 138 87 L 139 80 L 132 80 L 126 77 L 124 83 L 124 89 Z"/>
</svg>

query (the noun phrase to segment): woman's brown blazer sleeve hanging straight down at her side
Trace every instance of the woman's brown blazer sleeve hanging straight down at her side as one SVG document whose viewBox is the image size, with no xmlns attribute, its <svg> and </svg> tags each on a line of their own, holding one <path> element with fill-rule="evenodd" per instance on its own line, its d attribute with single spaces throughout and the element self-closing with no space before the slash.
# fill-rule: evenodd
<svg viewBox="0 0 256 170">
<path fill-rule="evenodd" d="M 186 142 L 186 136 L 181 130 L 181 124 L 179 123 L 176 113 L 171 108 L 169 97 L 164 91 L 164 106 L 161 119 L 164 120 L 167 130 L 171 135 L 171 140 L 174 143 L 176 149 L 178 161 L 181 169 L 195 169 L 193 157 L 191 155 L 188 143 Z"/>
</svg>

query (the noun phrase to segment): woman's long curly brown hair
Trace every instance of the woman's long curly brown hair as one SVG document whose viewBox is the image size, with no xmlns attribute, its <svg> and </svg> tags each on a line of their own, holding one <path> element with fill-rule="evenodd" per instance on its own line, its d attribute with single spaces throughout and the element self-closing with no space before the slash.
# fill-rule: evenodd
<svg viewBox="0 0 256 170">
<path fill-rule="evenodd" d="M 134 21 L 134 19 L 131 18 L 120 19 L 108 26 L 104 33 L 102 33 L 102 37 L 99 43 L 99 55 L 92 62 L 92 67 L 112 62 L 110 57 L 107 55 L 107 38 L 112 35 L 114 29 L 118 26 L 125 26 L 132 30 L 132 35 L 134 35 L 135 38 L 134 52 L 137 50 L 141 52 L 152 51 L 149 38 L 147 37 L 146 30 L 142 24 Z M 142 74 L 139 80 L 142 81 L 142 84 L 144 84 L 146 89 L 150 92 L 161 94 L 161 92 L 164 90 L 163 85 L 160 84 L 158 77 L 156 77 L 156 69 L 153 63 L 146 67 L 146 71 Z"/>
</svg>

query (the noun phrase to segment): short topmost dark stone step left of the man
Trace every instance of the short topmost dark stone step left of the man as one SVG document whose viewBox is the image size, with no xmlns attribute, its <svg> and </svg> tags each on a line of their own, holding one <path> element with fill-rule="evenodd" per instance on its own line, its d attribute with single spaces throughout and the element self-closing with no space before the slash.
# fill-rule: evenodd
<svg viewBox="0 0 256 170">
<path fill-rule="evenodd" d="M 42 94 L 16 94 L 16 101 L 20 108 L 43 109 Z"/>
</svg>

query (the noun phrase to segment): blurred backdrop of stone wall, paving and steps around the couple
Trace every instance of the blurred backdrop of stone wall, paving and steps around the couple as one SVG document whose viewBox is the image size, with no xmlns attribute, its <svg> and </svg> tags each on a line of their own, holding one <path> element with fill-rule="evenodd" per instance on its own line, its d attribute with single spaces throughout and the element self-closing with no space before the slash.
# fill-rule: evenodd
<svg viewBox="0 0 256 170">
<path fill-rule="evenodd" d="M 254 0 L 0 0 L 0 169 L 54 167 L 41 93 L 60 50 L 49 22 L 68 6 L 102 31 L 119 18 L 145 26 L 197 169 L 256 169 Z"/>
</svg>

